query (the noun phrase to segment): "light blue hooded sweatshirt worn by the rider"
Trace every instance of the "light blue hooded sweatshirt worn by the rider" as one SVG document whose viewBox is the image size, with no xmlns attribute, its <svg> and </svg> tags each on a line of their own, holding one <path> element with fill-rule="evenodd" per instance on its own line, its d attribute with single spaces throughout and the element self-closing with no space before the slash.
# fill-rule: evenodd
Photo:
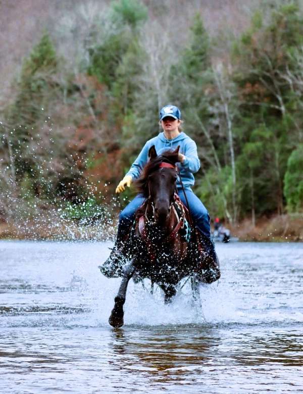
<svg viewBox="0 0 303 394">
<path fill-rule="evenodd" d="M 183 163 L 178 163 L 179 173 L 185 188 L 190 188 L 194 184 L 193 174 L 200 168 L 200 161 L 197 155 L 197 146 L 195 142 L 185 133 L 181 132 L 177 137 L 167 139 L 164 132 L 157 137 L 149 139 L 143 146 L 142 151 L 130 167 L 126 175 L 131 175 L 136 179 L 148 161 L 148 151 L 151 146 L 155 145 L 158 155 L 165 151 L 175 150 L 180 145 L 179 153 L 185 156 Z M 181 187 L 180 180 L 177 180 L 177 187 Z"/>
</svg>

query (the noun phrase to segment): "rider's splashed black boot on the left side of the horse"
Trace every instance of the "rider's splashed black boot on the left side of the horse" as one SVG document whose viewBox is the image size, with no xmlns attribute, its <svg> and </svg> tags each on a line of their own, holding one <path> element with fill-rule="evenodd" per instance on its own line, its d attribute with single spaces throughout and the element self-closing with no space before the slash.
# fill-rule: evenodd
<svg viewBox="0 0 303 394">
<path fill-rule="evenodd" d="M 129 235 L 129 227 L 119 223 L 117 239 L 109 258 L 98 268 L 108 278 L 123 276 L 123 267 L 128 261 L 125 243 Z"/>
</svg>

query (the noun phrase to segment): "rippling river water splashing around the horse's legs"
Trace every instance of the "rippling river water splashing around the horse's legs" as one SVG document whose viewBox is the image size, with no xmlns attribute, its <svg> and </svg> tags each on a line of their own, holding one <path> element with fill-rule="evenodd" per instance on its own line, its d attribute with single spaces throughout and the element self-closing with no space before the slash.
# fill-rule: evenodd
<svg viewBox="0 0 303 394">
<path fill-rule="evenodd" d="M 121 329 L 108 246 L 0 241 L 0 392 L 303 392 L 303 244 L 218 244 L 201 310 L 131 281 Z"/>
</svg>

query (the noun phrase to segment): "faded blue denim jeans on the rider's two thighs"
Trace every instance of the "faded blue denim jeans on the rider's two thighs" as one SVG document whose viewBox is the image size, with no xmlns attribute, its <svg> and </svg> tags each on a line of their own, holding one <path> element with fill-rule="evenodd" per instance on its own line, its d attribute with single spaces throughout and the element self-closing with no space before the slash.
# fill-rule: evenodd
<svg viewBox="0 0 303 394">
<path fill-rule="evenodd" d="M 197 196 L 192 192 L 191 189 L 185 189 L 186 197 L 189 204 L 190 213 L 192 220 L 201 234 L 203 234 L 207 239 L 211 240 L 211 227 L 210 227 L 210 215 L 197 198 Z M 182 203 L 187 207 L 186 200 L 182 189 L 178 189 L 178 194 Z M 134 218 L 137 209 L 144 203 L 145 199 L 142 194 L 137 194 L 135 198 L 121 211 L 119 216 L 119 227 L 118 234 L 122 235 L 128 232 Z"/>
</svg>

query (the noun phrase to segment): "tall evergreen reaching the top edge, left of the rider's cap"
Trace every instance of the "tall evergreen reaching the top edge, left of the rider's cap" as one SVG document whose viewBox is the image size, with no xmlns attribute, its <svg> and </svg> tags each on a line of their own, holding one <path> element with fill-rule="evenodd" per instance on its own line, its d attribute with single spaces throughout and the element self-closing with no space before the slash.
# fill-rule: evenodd
<svg viewBox="0 0 303 394">
<path fill-rule="evenodd" d="M 146 8 L 135 0 L 113 3 L 112 25 L 105 39 L 90 50 L 89 75 L 108 88 L 110 141 L 105 154 L 116 150 L 117 162 L 125 170 L 139 149 L 136 141 L 137 91 L 146 60 L 139 27 L 146 20 Z"/>
</svg>

